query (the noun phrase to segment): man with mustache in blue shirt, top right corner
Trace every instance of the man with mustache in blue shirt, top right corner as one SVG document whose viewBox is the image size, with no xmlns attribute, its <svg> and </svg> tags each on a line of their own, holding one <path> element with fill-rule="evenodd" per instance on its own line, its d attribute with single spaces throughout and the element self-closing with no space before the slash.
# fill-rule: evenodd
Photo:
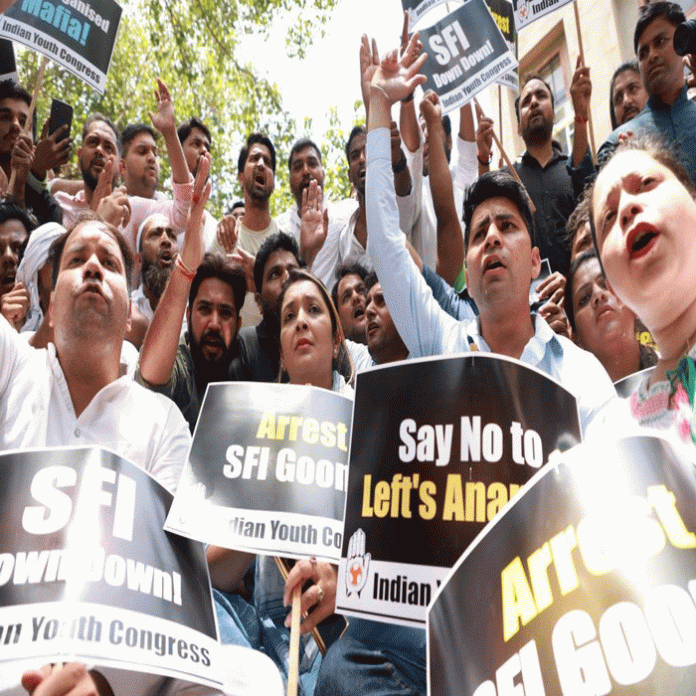
<svg viewBox="0 0 696 696">
<path fill-rule="evenodd" d="M 696 104 L 688 98 L 684 59 L 674 50 L 674 31 L 685 20 L 679 5 L 651 2 L 640 9 L 633 48 L 648 101 L 635 118 L 619 126 L 597 152 L 603 162 L 623 133 L 651 133 L 673 143 L 679 161 L 696 184 Z M 693 66 L 695 56 L 689 56 Z"/>
</svg>

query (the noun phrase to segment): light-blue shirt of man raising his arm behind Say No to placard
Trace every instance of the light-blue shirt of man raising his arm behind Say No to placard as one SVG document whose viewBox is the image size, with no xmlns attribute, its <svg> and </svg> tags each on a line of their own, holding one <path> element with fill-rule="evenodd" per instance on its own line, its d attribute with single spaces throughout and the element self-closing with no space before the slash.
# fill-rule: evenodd
<svg viewBox="0 0 696 696">
<path fill-rule="evenodd" d="M 468 351 L 472 341 L 479 350 L 490 352 L 478 321 L 467 326 L 440 307 L 406 249 L 399 230 L 387 128 L 367 134 L 365 194 L 368 253 L 409 357 Z M 553 377 L 575 396 L 584 432 L 602 407 L 616 398 L 614 385 L 594 355 L 556 335 L 541 317 L 533 315 L 532 320 L 535 333 L 520 360 Z"/>
</svg>

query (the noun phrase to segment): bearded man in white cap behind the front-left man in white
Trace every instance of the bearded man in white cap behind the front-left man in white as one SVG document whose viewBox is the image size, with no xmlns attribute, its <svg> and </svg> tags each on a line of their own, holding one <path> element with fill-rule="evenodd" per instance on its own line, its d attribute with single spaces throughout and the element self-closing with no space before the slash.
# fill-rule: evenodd
<svg viewBox="0 0 696 696">
<path fill-rule="evenodd" d="M 166 215 L 155 213 L 143 222 L 136 240 L 140 262 L 140 286 L 131 293 L 133 305 L 150 321 L 174 268 L 179 244 Z"/>
</svg>

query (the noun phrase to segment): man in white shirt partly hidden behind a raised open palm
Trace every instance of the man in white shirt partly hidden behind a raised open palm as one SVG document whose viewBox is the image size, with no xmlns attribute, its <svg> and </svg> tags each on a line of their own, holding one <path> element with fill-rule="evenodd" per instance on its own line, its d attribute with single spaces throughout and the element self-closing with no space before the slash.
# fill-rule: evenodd
<svg viewBox="0 0 696 696">
<path fill-rule="evenodd" d="M 295 199 L 295 205 L 280 215 L 276 222 L 283 232 L 292 235 L 297 243 L 301 244 L 302 195 L 312 181 L 316 181 L 319 187 L 324 188 L 325 172 L 321 161 L 321 152 L 317 145 L 309 138 L 301 138 L 296 141 L 290 150 L 288 168 L 290 170 L 290 191 Z M 355 212 L 357 205 L 353 198 L 347 198 L 339 203 L 323 202 L 324 210 L 328 216 L 326 239 L 311 264 L 311 271 L 327 288 L 333 285 L 334 273 L 339 264 L 338 239 L 340 232 Z"/>
</svg>

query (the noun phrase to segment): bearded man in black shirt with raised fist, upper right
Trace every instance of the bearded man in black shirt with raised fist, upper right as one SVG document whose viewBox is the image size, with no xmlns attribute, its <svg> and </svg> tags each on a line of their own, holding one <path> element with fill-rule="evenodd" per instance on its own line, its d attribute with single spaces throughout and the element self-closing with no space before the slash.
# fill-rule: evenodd
<svg viewBox="0 0 696 696">
<path fill-rule="evenodd" d="M 514 167 L 536 206 L 534 243 L 541 258 L 548 259 L 551 271 L 568 275 L 570 266 L 565 241 L 565 225 L 575 209 L 585 184 L 594 174 L 588 147 L 587 119 L 591 84 L 589 68 L 580 65 L 573 75 L 570 93 L 575 110 L 575 135 L 572 158 L 564 155 L 552 139 L 554 98 L 551 87 L 541 75 L 526 75 L 515 102 L 518 132 L 527 146 Z M 482 173 L 490 159 L 492 132 L 477 132 L 478 158 Z"/>
</svg>

